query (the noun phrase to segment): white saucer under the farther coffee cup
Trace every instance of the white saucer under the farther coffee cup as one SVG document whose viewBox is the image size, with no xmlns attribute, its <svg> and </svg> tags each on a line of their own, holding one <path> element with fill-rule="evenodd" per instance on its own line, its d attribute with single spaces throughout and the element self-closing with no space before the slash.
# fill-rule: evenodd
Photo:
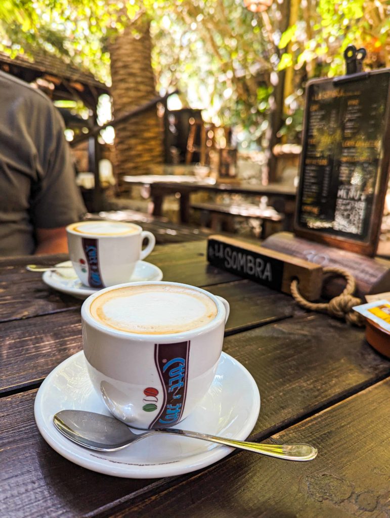
<svg viewBox="0 0 390 518">
<path fill-rule="evenodd" d="M 42 275 L 42 280 L 54 290 L 73 295 L 77 298 L 86 298 L 97 292 L 97 289 L 90 288 L 81 283 L 80 279 L 73 268 L 62 268 L 61 266 L 71 266 L 70 261 L 56 264 L 59 270 L 45 271 Z M 163 278 L 163 272 L 152 263 L 146 261 L 137 261 L 136 267 L 133 271 L 133 275 L 128 282 L 137 281 L 161 281 Z"/>
</svg>

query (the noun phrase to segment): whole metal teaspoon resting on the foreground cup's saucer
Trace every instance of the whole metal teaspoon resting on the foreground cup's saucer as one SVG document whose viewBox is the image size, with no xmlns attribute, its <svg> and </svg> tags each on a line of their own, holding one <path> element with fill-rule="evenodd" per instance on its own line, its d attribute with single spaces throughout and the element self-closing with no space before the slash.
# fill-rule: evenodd
<svg viewBox="0 0 390 518">
<path fill-rule="evenodd" d="M 143 434 L 134 434 L 118 419 L 83 410 L 61 410 L 54 415 L 53 422 L 55 427 L 71 441 L 85 448 L 98 451 L 117 451 L 150 435 L 171 434 L 218 442 L 232 448 L 262 453 L 287 461 L 311 461 L 317 455 L 316 448 L 309 444 L 262 444 L 236 441 L 235 439 L 225 439 L 177 428 L 161 428 L 148 430 Z"/>
</svg>

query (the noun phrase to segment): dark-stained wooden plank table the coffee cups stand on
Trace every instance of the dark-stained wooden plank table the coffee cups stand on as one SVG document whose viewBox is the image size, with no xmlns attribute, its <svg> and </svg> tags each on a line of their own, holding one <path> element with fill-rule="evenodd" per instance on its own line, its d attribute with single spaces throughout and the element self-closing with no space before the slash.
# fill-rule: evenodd
<svg viewBox="0 0 390 518">
<path fill-rule="evenodd" d="M 67 461 L 40 436 L 33 405 L 48 373 L 82 348 L 80 301 L 25 271 L 31 257 L 7 258 L 0 261 L 0 516 L 390 516 L 390 362 L 362 329 L 211 267 L 205 251 L 205 241 L 166 244 L 150 261 L 166 280 L 230 302 L 224 351 L 247 367 L 262 397 L 251 439 L 309 442 L 317 458 L 292 463 L 235 451 L 160 480 L 109 477 Z"/>
</svg>

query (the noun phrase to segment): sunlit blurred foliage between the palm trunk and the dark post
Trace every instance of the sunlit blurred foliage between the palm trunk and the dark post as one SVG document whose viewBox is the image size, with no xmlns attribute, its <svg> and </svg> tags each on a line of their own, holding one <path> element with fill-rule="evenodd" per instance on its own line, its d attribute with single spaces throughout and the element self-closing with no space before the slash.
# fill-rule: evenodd
<svg viewBox="0 0 390 518">
<path fill-rule="evenodd" d="M 273 40 L 280 34 L 279 5 L 270 9 L 275 35 L 264 32 L 263 19 L 242 0 L 165 0 L 153 7 L 158 86 L 179 88 L 183 104 L 204 109 L 206 120 L 239 126 L 258 140 L 279 61 Z"/>
</svg>

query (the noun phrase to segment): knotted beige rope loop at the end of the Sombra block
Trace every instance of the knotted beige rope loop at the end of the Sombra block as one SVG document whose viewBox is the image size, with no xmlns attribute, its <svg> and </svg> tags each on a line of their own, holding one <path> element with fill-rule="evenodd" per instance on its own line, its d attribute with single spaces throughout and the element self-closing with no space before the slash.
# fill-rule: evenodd
<svg viewBox="0 0 390 518">
<path fill-rule="evenodd" d="M 336 274 L 346 279 L 346 286 L 340 295 L 329 300 L 328 303 L 310 302 L 302 297 L 298 290 L 298 280 L 294 279 L 291 282 L 291 294 L 294 299 L 300 306 L 310 311 L 323 311 L 339 319 L 345 319 L 350 324 L 363 326 L 364 317 L 352 309 L 354 306 L 362 304 L 361 299 L 353 296 L 356 290 L 356 281 L 353 275 L 348 270 L 344 270 L 344 268 L 336 267 L 324 268 L 323 272 L 324 274 Z"/>
</svg>

